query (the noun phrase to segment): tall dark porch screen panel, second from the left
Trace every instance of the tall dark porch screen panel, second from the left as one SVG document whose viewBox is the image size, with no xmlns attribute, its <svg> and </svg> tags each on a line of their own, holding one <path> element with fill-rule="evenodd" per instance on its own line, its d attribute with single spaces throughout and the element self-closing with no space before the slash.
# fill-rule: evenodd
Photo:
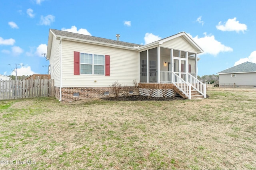
<svg viewBox="0 0 256 170">
<path fill-rule="evenodd" d="M 157 48 L 148 50 L 148 60 L 149 60 L 149 80 L 148 82 L 157 82 Z"/>
</svg>

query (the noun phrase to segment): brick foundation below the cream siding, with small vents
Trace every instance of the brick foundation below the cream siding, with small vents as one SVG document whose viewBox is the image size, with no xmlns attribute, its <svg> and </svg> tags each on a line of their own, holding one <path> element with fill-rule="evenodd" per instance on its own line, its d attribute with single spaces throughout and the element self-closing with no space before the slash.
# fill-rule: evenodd
<svg viewBox="0 0 256 170">
<path fill-rule="evenodd" d="M 107 93 L 108 94 L 104 94 Z M 133 92 L 132 94 L 129 92 Z M 60 88 L 54 87 L 54 94 L 60 99 Z M 91 98 L 108 98 L 114 97 L 112 87 L 68 87 L 61 88 L 62 101 L 84 100 Z M 119 96 L 138 95 L 138 88 L 134 86 L 122 87 Z"/>
</svg>

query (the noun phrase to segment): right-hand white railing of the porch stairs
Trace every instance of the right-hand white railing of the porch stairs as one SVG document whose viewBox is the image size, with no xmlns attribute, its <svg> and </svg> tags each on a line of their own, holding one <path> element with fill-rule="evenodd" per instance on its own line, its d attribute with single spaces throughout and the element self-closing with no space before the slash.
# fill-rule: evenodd
<svg viewBox="0 0 256 170">
<path fill-rule="evenodd" d="M 191 84 L 191 86 L 197 90 L 200 94 L 206 98 L 206 84 L 202 83 L 200 80 L 192 76 L 191 74 L 188 74 L 188 83 Z"/>
</svg>

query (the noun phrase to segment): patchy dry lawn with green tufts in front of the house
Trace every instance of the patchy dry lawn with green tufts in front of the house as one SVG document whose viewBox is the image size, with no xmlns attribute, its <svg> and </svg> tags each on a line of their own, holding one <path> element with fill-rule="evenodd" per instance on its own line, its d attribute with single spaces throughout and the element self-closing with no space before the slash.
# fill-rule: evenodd
<svg viewBox="0 0 256 170">
<path fill-rule="evenodd" d="M 15 163 L 0 169 L 255 170 L 256 92 L 208 95 L 182 102 L 0 101 L 0 160 Z"/>
</svg>

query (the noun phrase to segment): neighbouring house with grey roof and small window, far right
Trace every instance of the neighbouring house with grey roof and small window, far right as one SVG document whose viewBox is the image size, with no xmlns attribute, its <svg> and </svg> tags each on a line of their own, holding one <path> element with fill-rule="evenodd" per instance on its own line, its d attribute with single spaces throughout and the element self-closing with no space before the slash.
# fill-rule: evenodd
<svg viewBox="0 0 256 170">
<path fill-rule="evenodd" d="M 256 88 L 256 64 L 245 62 L 238 64 L 219 74 L 219 87 Z"/>
</svg>

